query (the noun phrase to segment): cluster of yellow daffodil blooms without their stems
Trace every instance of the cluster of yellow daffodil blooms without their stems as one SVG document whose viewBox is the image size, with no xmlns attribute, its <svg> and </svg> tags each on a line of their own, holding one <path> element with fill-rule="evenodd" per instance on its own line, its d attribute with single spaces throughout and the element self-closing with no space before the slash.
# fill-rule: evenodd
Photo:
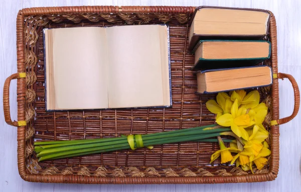
<svg viewBox="0 0 301 192">
<path fill-rule="evenodd" d="M 266 156 L 271 151 L 265 139 L 268 131 L 262 125 L 266 115 L 267 107 L 259 103 L 260 95 L 257 90 L 246 94 L 245 90 L 220 92 L 216 101 L 206 102 L 207 109 L 216 114 L 216 123 L 223 127 L 230 127 L 236 135 L 235 142 L 226 148 L 224 142 L 218 137 L 220 150 L 211 156 L 211 162 L 221 156 L 221 163 L 230 162 L 241 166 L 243 170 L 253 172 L 252 165 L 255 163 L 257 169 L 262 169 L 267 163 Z M 236 153 L 233 157 L 231 153 Z"/>
</svg>

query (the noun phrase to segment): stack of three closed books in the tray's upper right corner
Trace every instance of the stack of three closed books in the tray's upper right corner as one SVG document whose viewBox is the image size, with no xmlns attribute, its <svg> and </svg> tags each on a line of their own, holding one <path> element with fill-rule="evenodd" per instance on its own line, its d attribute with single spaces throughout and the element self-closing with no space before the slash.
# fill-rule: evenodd
<svg viewBox="0 0 301 192">
<path fill-rule="evenodd" d="M 198 93 L 219 92 L 272 83 L 264 41 L 270 14 L 266 11 L 200 7 L 193 16 L 189 49 L 195 54 Z"/>
</svg>

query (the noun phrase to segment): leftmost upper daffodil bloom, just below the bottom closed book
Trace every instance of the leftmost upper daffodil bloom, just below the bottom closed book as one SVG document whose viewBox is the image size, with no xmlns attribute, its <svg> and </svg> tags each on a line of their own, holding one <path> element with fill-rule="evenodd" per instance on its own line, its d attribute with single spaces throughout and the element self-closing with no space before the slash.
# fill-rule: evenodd
<svg viewBox="0 0 301 192">
<path fill-rule="evenodd" d="M 206 102 L 207 109 L 213 113 L 217 114 L 217 118 L 223 114 L 230 113 L 233 102 L 231 101 L 229 95 L 225 92 L 219 92 L 215 100 L 209 100 Z"/>
</svg>

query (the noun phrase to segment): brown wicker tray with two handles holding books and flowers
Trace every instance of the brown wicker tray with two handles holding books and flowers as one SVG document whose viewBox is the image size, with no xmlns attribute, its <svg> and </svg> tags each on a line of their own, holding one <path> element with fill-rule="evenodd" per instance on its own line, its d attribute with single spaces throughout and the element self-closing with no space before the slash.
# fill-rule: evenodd
<svg viewBox="0 0 301 192">
<path fill-rule="evenodd" d="M 209 164 L 217 143 L 182 142 L 154 149 L 123 150 L 67 159 L 37 162 L 33 141 L 115 137 L 186 129 L 214 123 L 204 105 L 214 94 L 197 95 L 190 70 L 194 55 L 187 50 L 189 21 L 194 7 L 57 7 L 23 9 L 17 17 L 18 73 L 4 86 L 4 114 L 18 126 L 18 168 L 21 177 L 35 182 L 64 183 L 222 183 L 256 182 L 276 178 L 279 165 L 279 126 L 290 121 L 299 108 L 294 78 L 278 73 L 276 22 L 271 13 L 267 39 L 271 58 L 265 62 L 274 73 L 273 85 L 261 88 L 269 113 L 264 126 L 270 132 L 268 164 L 255 174 L 229 164 Z M 143 110 L 45 112 L 43 28 L 142 25 L 169 23 L 173 108 Z M 23 73 L 22 73 L 23 72 Z M 26 72 L 26 78 L 22 74 Z M 288 78 L 294 88 L 295 106 L 290 117 L 279 119 L 278 79 Z M 18 121 L 10 118 L 9 86 L 17 80 Z M 80 87 L 78 87 L 80 88 Z M 274 126 L 269 126 L 276 120 Z M 26 125 L 24 125 L 26 121 Z M 275 121 L 274 121 L 275 122 Z"/>
</svg>

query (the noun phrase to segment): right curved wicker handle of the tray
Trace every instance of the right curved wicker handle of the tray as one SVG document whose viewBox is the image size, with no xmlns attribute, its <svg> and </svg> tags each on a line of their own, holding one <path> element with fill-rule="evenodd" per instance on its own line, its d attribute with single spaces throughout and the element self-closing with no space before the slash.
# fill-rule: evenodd
<svg viewBox="0 0 301 192">
<path fill-rule="evenodd" d="M 289 122 L 290 120 L 292 120 L 298 113 L 299 111 L 299 107 L 300 107 L 300 92 L 299 92 L 299 87 L 298 84 L 296 82 L 296 80 L 293 78 L 293 76 L 291 76 L 290 74 L 286 74 L 286 73 L 277 73 L 274 74 L 277 75 L 278 79 L 284 79 L 284 78 L 288 78 L 288 80 L 291 82 L 292 88 L 293 88 L 293 95 L 294 95 L 294 106 L 293 106 L 293 112 L 290 116 L 282 118 L 282 119 L 278 119 L 278 120 L 272 120 L 270 122 L 270 125 L 281 125 L 284 123 Z"/>
</svg>

